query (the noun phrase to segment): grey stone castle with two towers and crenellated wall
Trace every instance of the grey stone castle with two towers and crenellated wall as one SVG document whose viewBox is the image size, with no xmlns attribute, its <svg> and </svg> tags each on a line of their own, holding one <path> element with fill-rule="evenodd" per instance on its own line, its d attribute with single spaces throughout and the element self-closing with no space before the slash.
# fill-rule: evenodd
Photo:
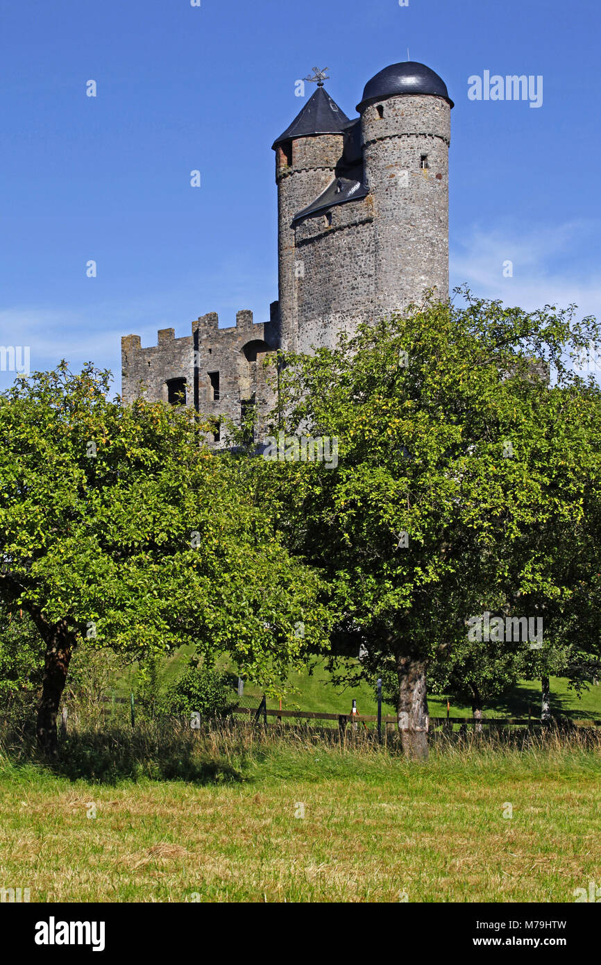
<svg viewBox="0 0 601 965">
<path fill-rule="evenodd" d="M 214 313 L 158 345 L 122 339 L 122 398 L 144 394 L 194 406 L 239 425 L 271 407 L 265 353 L 335 345 L 341 330 L 402 311 L 423 291 L 449 293 L 449 145 L 452 101 L 444 81 L 407 61 L 366 85 L 349 120 L 323 86 L 273 144 L 278 186 L 279 301 L 269 321 L 238 312 L 219 328 Z"/>
</svg>

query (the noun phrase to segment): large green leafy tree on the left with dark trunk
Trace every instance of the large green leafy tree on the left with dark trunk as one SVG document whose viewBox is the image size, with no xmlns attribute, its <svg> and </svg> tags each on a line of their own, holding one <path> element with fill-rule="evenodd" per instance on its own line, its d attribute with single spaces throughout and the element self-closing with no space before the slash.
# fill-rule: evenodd
<svg viewBox="0 0 601 965">
<path fill-rule="evenodd" d="M 109 400 L 109 378 L 62 363 L 0 395 L 0 598 L 43 642 L 48 753 L 81 640 L 139 657 L 228 650 L 269 686 L 323 638 L 318 578 L 274 536 L 237 460 L 211 455 L 182 407 Z"/>
</svg>

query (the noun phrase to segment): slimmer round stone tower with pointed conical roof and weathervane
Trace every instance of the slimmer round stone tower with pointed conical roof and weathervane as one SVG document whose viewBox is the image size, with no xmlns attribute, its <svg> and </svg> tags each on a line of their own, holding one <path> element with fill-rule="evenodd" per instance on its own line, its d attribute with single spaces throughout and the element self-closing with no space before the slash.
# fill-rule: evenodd
<svg viewBox="0 0 601 965">
<path fill-rule="evenodd" d="M 348 123 L 320 82 L 314 96 L 273 145 L 278 184 L 280 332 L 281 345 L 288 351 L 297 347 L 298 287 L 305 269 L 296 254 L 292 220 L 333 179 L 342 152 L 342 131 Z"/>
</svg>

